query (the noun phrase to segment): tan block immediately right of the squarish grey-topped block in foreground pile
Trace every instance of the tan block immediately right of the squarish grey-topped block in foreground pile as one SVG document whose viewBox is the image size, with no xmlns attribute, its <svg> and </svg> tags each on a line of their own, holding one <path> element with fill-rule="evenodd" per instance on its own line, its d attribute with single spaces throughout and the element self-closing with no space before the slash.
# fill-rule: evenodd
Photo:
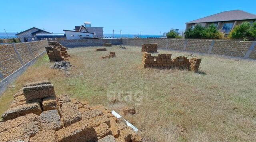
<svg viewBox="0 0 256 142">
<path fill-rule="evenodd" d="M 72 102 L 62 104 L 60 108 L 60 115 L 65 127 L 82 120 L 82 116 L 78 108 Z"/>
</svg>

